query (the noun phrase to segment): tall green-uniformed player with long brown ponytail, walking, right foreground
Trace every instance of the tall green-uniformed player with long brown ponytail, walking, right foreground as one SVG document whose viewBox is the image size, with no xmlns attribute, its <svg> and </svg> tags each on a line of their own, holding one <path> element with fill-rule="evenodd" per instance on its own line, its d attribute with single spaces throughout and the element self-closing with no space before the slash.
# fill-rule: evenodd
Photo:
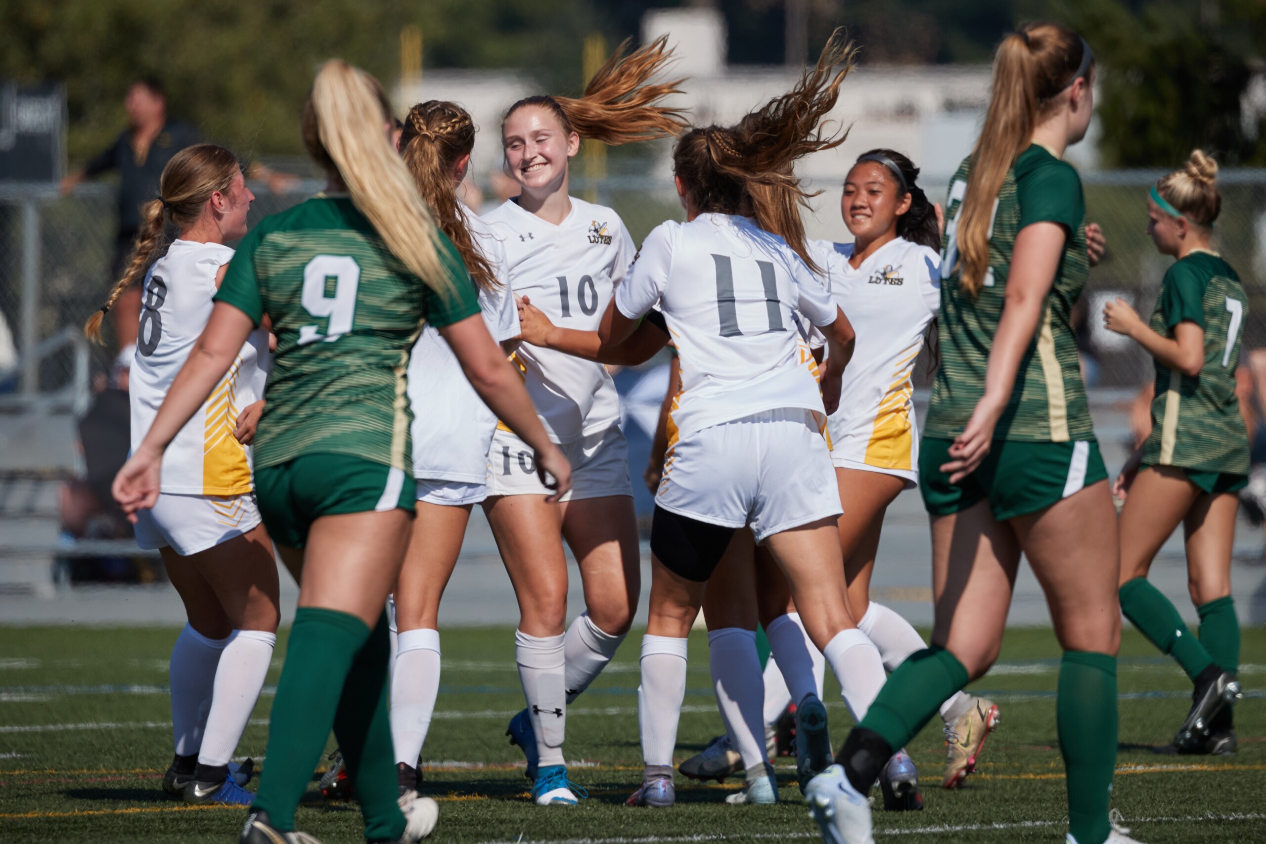
<svg viewBox="0 0 1266 844">
<path fill-rule="evenodd" d="M 1056 720 L 1070 844 L 1112 826 L 1120 609 L 1117 519 L 1070 313 L 1089 271 L 1085 200 L 1065 149 L 1093 109 L 1090 46 L 1025 24 L 998 48 L 976 147 L 950 187 L 941 369 L 919 456 L 936 625 L 849 734 L 814 795 L 828 840 L 870 844 L 863 795 L 893 752 L 998 658 L 1023 553 L 1063 648 Z M 825 777 L 827 774 L 823 774 Z"/>
</svg>

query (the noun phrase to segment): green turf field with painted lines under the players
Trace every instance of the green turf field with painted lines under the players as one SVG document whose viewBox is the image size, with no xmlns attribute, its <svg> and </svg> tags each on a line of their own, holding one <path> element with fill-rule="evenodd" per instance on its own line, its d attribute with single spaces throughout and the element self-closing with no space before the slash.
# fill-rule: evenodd
<svg viewBox="0 0 1266 844">
<path fill-rule="evenodd" d="M 186 809 L 162 793 L 171 759 L 163 629 L 0 628 L 0 840 L 230 841 L 241 809 Z M 628 809 L 641 776 L 634 634 L 568 714 L 572 779 L 589 788 L 576 809 L 527 800 L 523 758 L 503 736 L 522 706 L 509 629 L 443 634 L 444 674 L 423 750 L 424 792 L 441 804 L 437 841 L 705 841 L 815 839 L 795 787 L 780 768 L 779 806 L 728 806 L 738 782 L 698 786 L 679 777 L 677 806 Z M 706 639 L 691 638 L 690 686 L 679 762 L 720 729 L 708 678 Z M 280 650 L 279 650 L 280 654 Z M 1053 690 L 1058 649 L 1048 630 L 1008 633 L 994 673 L 975 685 L 1001 707 L 981 773 L 960 792 L 939 788 L 938 720 L 910 748 L 924 778 L 927 810 L 876 814 L 879 836 L 909 841 L 1062 841 L 1063 768 L 1056 748 Z M 1239 753 L 1166 757 L 1163 744 L 1186 712 L 1190 686 L 1133 630 L 1119 669 L 1120 757 L 1115 806 L 1133 835 L 1165 841 L 1266 841 L 1266 631 L 1246 630 L 1247 698 L 1236 714 Z M 270 686 L 281 662 L 273 663 Z M 849 724 L 828 680 L 836 742 Z M 239 753 L 263 754 L 272 698 L 266 691 Z M 790 762 L 784 759 L 784 763 Z M 266 763 L 265 763 L 266 764 Z M 877 795 L 877 791 L 876 791 Z M 352 805 L 323 805 L 315 791 L 299 828 L 327 843 L 358 841 Z M 894 840 L 896 840 L 894 838 Z"/>
</svg>

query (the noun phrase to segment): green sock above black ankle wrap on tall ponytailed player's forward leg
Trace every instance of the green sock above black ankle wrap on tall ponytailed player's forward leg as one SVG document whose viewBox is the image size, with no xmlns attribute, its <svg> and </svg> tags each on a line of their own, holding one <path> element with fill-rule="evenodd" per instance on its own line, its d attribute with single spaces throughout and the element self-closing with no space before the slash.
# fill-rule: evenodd
<svg viewBox="0 0 1266 844">
<path fill-rule="evenodd" d="M 936 645 L 917 650 L 889 674 L 857 726 L 879 734 L 894 749 L 904 748 L 966 685 L 967 669 L 952 653 Z"/>
</svg>

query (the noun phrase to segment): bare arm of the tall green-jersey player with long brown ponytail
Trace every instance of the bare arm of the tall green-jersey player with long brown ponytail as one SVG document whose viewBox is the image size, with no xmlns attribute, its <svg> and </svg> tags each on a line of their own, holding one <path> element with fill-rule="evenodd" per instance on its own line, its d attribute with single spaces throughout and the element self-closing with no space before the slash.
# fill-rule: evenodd
<svg viewBox="0 0 1266 844">
<path fill-rule="evenodd" d="M 950 462 L 941 467 L 951 483 L 975 472 L 993 448 L 994 428 L 1010 401 L 1020 361 L 1042 320 L 1066 238 L 1065 228 L 1050 221 L 1025 225 L 1015 238 L 1003 316 L 985 369 L 985 395 L 950 447 Z"/>
</svg>

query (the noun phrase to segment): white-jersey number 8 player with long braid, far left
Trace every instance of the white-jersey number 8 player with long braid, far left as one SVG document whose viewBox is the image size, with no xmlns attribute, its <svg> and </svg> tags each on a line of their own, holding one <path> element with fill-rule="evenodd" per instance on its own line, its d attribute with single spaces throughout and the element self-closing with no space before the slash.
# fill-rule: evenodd
<svg viewBox="0 0 1266 844">
<path fill-rule="evenodd" d="M 99 340 L 101 318 L 144 277 L 129 386 L 133 449 L 210 319 L 211 297 L 233 257 L 224 244 L 246 234 L 252 200 L 228 149 L 199 144 L 177 153 L 163 168 L 158 199 L 143 209 L 132 263 L 85 325 Z M 180 229 L 170 245 L 168 224 Z M 162 785 L 195 804 L 247 806 L 254 797 L 242 788 L 251 766 L 230 759 L 277 640 L 277 566 L 244 444 L 258 419 L 246 411 L 263 397 L 268 363 L 268 330 L 260 328 L 176 434 L 162 459 L 158 501 L 137 515 L 137 544 L 158 549 L 189 616 L 171 652 L 176 755 Z"/>
</svg>

